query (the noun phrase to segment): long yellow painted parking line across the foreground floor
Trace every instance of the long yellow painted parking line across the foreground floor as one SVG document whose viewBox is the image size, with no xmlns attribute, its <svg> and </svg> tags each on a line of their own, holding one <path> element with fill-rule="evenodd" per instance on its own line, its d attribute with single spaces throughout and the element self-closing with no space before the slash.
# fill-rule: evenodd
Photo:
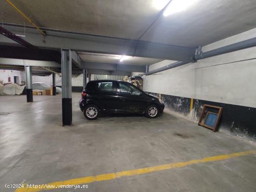
<svg viewBox="0 0 256 192">
<path fill-rule="evenodd" d="M 198 163 L 207 163 L 207 162 L 211 162 L 211 161 L 232 159 L 232 158 L 241 157 L 241 156 L 245 156 L 245 155 L 251 155 L 251 154 L 256 154 L 256 150 L 245 151 L 245 152 L 236 152 L 236 153 L 231 153 L 231 154 L 206 157 L 203 159 L 195 159 L 195 160 L 165 164 L 165 165 L 160 165 L 160 166 L 151 166 L 151 167 L 128 170 L 128 171 L 123 171 L 123 172 L 113 172 L 113 173 L 96 175 L 96 176 L 69 179 L 69 180 L 65 180 L 65 181 L 57 181 L 57 182 L 53 182 L 53 183 L 37 185 L 36 186 L 37 188 L 36 187 L 18 188 L 18 189 L 16 189 L 15 192 L 39 192 L 39 191 L 53 190 L 53 189 L 60 188 L 60 185 L 88 184 L 88 183 L 93 183 L 96 181 L 105 181 L 105 180 L 111 180 L 111 179 L 116 179 L 116 178 L 121 178 L 121 177 L 128 177 L 128 176 L 133 176 L 133 175 L 140 175 L 140 174 L 145 174 L 145 173 L 150 173 L 150 172 L 163 171 L 163 170 L 173 169 L 173 168 L 177 168 L 177 167 L 185 167 L 185 166 L 189 166 L 192 164 L 198 164 Z"/>
</svg>

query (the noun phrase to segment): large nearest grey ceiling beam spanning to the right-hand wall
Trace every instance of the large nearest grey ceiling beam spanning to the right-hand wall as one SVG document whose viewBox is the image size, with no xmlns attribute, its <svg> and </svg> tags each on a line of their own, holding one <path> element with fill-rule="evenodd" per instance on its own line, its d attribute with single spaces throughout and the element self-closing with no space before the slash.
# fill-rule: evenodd
<svg viewBox="0 0 256 192">
<path fill-rule="evenodd" d="M 15 34 L 23 34 L 23 26 L 4 25 Z M 43 28 L 42 28 L 43 29 Z M 58 30 L 43 29 L 43 37 L 36 29 L 26 28 L 26 41 L 38 47 L 67 48 L 74 51 L 92 53 L 108 53 L 136 57 L 155 58 L 162 60 L 192 61 L 194 48 L 153 43 L 148 41 L 128 40 L 84 33 L 71 33 Z M 15 43 L 0 36 L 0 43 Z M 136 52 L 135 48 L 137 46 Z M 135 53 L 134 53 L 135 52 Z"/>
</svg>

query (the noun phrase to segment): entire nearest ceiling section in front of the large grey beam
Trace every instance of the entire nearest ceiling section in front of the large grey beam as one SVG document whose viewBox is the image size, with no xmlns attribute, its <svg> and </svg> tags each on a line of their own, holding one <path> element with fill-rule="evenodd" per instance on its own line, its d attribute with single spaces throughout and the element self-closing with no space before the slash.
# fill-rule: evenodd
<svg viewBox="0 0 256 192">
<path fill-rule="evenodd" d="M 6 0 L 1 21 L 24 25 Z M 38 26 L 137 40 L 168 0 L 13 0 Z M 256 27 L 255 0 L 198 0 L 186 11 L 161 16 L 141 40 L 196 47 Z M 30 24 L 25 21 L 25 25 Z"/>
</svg>

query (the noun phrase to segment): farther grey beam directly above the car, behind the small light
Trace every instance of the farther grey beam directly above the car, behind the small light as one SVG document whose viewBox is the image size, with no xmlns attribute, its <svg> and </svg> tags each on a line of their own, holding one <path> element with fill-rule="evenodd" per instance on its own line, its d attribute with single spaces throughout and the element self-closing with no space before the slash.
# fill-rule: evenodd
<svg viewBox="0 0 256 192">
<path fill-rule="evenodd" d="M 83 62 L 84 69 L 101 69 L 108 71 L 128 71 L 128 72 L 146 72 L 146 66 L 138 65 L 123 65 L 113 63 L 97 63 L 97 62 Z"/>
</svg>

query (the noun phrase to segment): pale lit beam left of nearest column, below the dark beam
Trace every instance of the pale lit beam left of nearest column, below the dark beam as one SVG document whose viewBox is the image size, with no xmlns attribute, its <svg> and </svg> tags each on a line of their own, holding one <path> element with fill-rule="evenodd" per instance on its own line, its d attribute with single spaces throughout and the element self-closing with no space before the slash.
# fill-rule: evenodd
<svg viewBox="0 0 256 192">
<path fill-rule="evenodd" d="M 43 66 L 43 67 L 56 67 L 61 68 L 61 65 L 54 61 L 40 61 L 40 60 L 19 60 L 0 58 L 0 65 L 13 65 L 13 66 Z"/>
</svg>

